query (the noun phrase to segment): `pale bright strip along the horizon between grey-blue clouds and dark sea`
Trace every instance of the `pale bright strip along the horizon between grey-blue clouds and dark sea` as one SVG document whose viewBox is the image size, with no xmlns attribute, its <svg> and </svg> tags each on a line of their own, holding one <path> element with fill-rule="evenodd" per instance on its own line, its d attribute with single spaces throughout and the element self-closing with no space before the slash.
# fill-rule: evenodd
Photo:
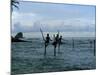
<svg viewBox="0 0 100 75">
<path fill-rule="evenodd" d="M 50 37 L 53 37 L 54 34 L 58 32 L 43 32 L 44 36 L 49 33 Z M 17 33 L 12 33 L 12 36 L 15 36 Z M 25 38 L 42 38 L 41 32 L 25 32 L 23 33 Z M 70 37 L 95 37 L 95 32 L 59 32 L 63 38 Z"/>
</svg>

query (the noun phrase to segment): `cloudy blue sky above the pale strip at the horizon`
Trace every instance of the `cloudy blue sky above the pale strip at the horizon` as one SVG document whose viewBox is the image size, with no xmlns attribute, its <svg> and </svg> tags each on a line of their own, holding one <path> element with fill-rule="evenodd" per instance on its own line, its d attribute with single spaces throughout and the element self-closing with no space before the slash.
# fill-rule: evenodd
<svg viewBox="0 0 100 75">
<path fill-rule="evenodd" d="M 12 32 L 95 32 L 95 6 L 19 3 L 12 11 Z"/>
</svg>

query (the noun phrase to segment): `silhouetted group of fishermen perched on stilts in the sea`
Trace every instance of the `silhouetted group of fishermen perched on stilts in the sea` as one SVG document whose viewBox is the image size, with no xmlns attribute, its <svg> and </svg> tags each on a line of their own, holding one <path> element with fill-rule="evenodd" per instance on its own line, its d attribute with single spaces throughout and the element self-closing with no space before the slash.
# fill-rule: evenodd
<svg viewBox="0 0 100 75">
<path fill-rule="evenodd" d="M 62 36 L 59 36 L 59 33 L 55 35 L 53 35 L 53 40 L 51 40 L 49 34 L 47 33 L 47 36 L 45 37 L 45 52 L 44 55 L 46 55 L 46 48 L 49 45 L 50 41 L 52 42 L 52 45 L 54 46 L 54 56 L 56 56 L 56 48 L 58 46 L 58 52 L 60 52 L 60 45 L 62 43 Z"/>
</svg>

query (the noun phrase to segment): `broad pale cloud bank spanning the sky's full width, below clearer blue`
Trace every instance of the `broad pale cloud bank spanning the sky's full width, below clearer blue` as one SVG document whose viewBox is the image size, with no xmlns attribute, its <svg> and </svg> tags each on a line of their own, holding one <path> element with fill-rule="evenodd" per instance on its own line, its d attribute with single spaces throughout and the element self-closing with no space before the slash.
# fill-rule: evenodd
<svg viewBox="0 0 100 75">
<path fill-rule="evenodd" d="M 13 32 L 39 31 L 95 31 L 95 20 L 91 18 L 53 18 L 36 13 L 13 12 Z"/>
</svg>

